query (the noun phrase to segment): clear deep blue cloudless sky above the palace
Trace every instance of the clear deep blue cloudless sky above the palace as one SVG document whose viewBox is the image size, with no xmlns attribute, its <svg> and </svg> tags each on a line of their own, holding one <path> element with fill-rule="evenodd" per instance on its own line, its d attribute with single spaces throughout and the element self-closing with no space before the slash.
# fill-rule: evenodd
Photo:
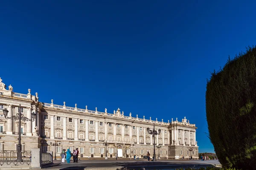
<svg viewBox="0 0 256 170">
<path fill-rule="evenodd" d="M 256 40 L 255 1 L 2 1 L 0 77 L 41 102 L 186 116 L 200 152 L 206 79 Z"/>
</svg>

